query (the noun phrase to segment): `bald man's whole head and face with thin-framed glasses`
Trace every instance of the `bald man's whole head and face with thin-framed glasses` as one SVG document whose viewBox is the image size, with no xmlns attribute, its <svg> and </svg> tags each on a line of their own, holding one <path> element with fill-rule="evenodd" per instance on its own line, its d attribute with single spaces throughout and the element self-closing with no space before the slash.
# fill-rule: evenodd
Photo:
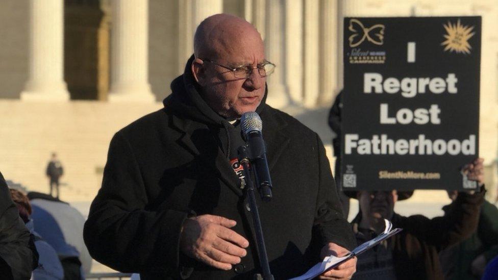
<svg viewBox="0 0 498 280">
<path fill-rule="evenodd" d="M 230 119 L 256 111 L 266 82 L 258 65 L 266 59 L 261 35 L 249 22 L 226 14 L 206 18 L 195 32 L 194 54 L 192 75 L 211 109 Z M 232 69 L 238 67 L 244 74 L 251 68 L 249 77 L 237 77 Z"/>
</svg>

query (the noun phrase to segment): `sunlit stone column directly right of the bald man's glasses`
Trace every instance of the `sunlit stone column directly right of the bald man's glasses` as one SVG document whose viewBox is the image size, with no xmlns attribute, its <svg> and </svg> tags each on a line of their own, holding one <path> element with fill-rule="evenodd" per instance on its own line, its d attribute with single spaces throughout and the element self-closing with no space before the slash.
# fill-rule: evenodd
<svg viewBox="0 0 498 280">
<path fill-rule="evenodd" d="M 277 65 L 275 72 L 267 78 L 268 97 L 266 103 L 276 108 L 282 108 L 289 104 L 289 96 L 285 86 L 285 42 L 284 42 L 284 21 L 283 2 L 266 1 L 266 32 L 265 48 L 266 58 Z"/>
</svg>

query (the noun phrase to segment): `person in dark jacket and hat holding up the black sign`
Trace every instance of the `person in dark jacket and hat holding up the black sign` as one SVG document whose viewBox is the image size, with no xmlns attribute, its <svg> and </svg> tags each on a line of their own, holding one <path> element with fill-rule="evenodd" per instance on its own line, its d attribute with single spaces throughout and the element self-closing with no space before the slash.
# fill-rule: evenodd
<svg viewBox="0 0 498 280">
<path fill-rule="evenodd" d="M 352 221 L 357 243 L 371 240 L 384 231 L 384 219 L 403 228 L 387 242 L 358 256 L 353 279 L 443 279 L 438 253 L 476 231 L 484 200 L 483 160 L 476 159 L 463 168 L 468 180 L 477 181 L 480 190 L 460 192 L 454 206 L 441 217 L 404 217 L 394 212 L 395 202 L 409 198 L 413 191 L 345 192 L 359 201 L 360 211 Z"/>
</svg>

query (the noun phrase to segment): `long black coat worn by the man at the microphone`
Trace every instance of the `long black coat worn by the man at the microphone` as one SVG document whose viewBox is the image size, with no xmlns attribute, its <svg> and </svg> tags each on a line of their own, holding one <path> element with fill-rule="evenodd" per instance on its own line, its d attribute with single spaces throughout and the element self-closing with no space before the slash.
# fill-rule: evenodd
<svg viewBox="0 0 498 280">
<path fill-rule="evenodd" d="M 85 224 L 87 247 L 97 261 L 140 272 L 142 279 L 180 274 L 189 279 L 252 279 L 259 263 L 256 242 L 240 181 L 220 147 L 220 134 L 213 133 L 221 124 L 199 108 L 206 105 L 188 73 L 173 81 L 172 89 L 165 108 L 138 119 L 111 140 L 102 188 Z M 258 205 L 271 272 L 282 279 L 317 261 L 326 242 L 352 249 L 355 239 L 342 218 L 318 135 L 269 106 L 263 104 L 259 111 L 273 199 L 262 202 L 258 197 Z M 182 223 L 189 215 L 202 214 L 237 221 L 233 229 L 249 240 L 238 274 L 179 251 Z"/>
</svg>

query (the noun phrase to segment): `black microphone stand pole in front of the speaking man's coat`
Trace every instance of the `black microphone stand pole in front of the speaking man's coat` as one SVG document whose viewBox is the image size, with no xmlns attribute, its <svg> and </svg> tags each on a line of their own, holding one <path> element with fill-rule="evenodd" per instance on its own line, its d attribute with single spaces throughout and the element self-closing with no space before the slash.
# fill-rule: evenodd
<svg viewBox="0 0 498 280">
<path fill-rule="evenodd" d="M 262 270 L 261 274 L 255 274 L 255 280 L 274 280 L 273 275 L 270 272 L 270 266 L 268 264 L 268 256 L 266 254 L 266 247 L 263 238 L 263 228 L 261 227 L 261 220 L 259 217 L 258 205 L 256 204 L 256 195 L 254 181 L 252 175 L 254 170 L 250 166 L 250 151 L 246 145 L 242 145 L 238 148 L 239 153 L 239 163 L 244 169 L 244 181 L 245 181 L 245 194 L 249 202 L 249 208 L 251 212 L 251 217 L 253 218 L 254 231 L 256 233 L 256 243 L 258 248 L 259 263 Z"/>
</svg>

